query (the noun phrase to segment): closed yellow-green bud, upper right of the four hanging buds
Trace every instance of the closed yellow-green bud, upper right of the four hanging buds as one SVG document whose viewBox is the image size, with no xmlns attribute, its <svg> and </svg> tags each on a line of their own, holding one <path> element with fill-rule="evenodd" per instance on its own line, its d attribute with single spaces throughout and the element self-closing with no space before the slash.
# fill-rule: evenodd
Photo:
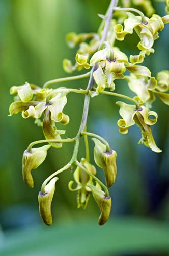
<svg viewBox="0 0 169 256">
<path fill-rule="evenodd" d="M 94 159 L 95 163 L 103 168 L 106 185 L 111 187 L 116 179 L 117 166 L 116 166 L 116 157 L 117 153 L 114 150 L 110 152 L 106 151 L 106 146 L 98 139 L 92 138 L 95 143 L 94 147 Z"/>
</svg>

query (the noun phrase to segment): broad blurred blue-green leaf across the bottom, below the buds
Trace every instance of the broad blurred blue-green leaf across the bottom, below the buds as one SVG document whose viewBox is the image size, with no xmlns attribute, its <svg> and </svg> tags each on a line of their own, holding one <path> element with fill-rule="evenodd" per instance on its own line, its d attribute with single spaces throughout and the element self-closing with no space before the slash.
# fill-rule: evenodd
<svg viewBox="0 0 169 256">
<path fill-rule="evenodd" d="M 1 255 L 110 255 L 112 253 L 169 252 L 169 229 L 160 222 L 114 219 L 53 227 L 35 227 L 6 234 Z"/>
</svg>

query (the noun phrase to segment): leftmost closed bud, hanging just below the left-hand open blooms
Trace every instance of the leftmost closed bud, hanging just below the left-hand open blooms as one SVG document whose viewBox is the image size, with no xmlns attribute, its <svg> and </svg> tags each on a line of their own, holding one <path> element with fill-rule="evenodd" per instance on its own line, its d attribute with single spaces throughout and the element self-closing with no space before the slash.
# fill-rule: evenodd
<svg viewBox="0 0 169 256">
<path fill-rule="evenodd" d="M 31 174 L 32 169 L 36 169 L 43 163 L 46 158 L 47 150 L 50 145 L 38 148 L 31 148 L 30 151 L 25 150 L 22 158 L 22 176 L 24 182 L 29 186 L 34 186 L 34 180 Z"/>
</svg>

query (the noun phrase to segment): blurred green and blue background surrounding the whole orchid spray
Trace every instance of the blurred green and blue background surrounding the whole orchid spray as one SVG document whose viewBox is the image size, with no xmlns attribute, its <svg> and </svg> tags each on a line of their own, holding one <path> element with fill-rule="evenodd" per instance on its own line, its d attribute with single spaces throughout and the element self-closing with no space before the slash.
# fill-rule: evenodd
<svg viewBox="0 0 169 256">
<path fill-rule="evenodd" d="M 52 227 L 45 227 L 38 213 L 37 195 L 44 179 L 71 158 L 72 145 L 48 152 L 45 162 L 33 172 L 35 187 L 22 181 L 22 153 L 34 140 L 43 138 L 40 127 L 21 115 L 8 117 L 11 86 L 25 81 L 42 86 L 50 79 L 65 77 L 62 60 L 74 60 L 75 50 L 65 43 L 71 31 L 97 31 L 109 1 L 101 0 L 1 0 L 0 1 L 0 81 L 1 81 L 1 159 L 0 159 L 0 255 L 169 255 L 169 109 L 158 99 L 153 110 L 159 115 L 153 127 L 161 154 L 137 144 L 140 131 L 131 127 L 120 135 L 117 99 L 99 96 L 91 100 L 88 131 L 98 133 L 118 153 L 116 183 L 110 189 L 110 220 L 98 227 L 99 209 L 90 198 L 88 208 L 77 209 L 76 193 L 68 190 L 72 174 L 60 175 L 52 202 Z M 159 15 L 164 4 L 154 3 Z M 169 26 L 155 41 L 155 54 L 146 58 L 153 76 L 169 69 Z M 127 55 L 137 54 L 137 37 L 127 36 L 116 44 Z M 86 88 L 86 80 L 63 86 Z M 127 84 L 117 82 L 116 91 L 133 96 Z M 69 95 L 66 113 L 71 121 L 67 136 L 78 131 L 83 96 Z M 90 142 L 91 156 L 93 144 Z M 84 156 L 83 147 L 79 159 Z M 93 161 L 93 157 L 92 157 Z M 104 180 L 101 169 L 98 176 Z"/>
</svg>

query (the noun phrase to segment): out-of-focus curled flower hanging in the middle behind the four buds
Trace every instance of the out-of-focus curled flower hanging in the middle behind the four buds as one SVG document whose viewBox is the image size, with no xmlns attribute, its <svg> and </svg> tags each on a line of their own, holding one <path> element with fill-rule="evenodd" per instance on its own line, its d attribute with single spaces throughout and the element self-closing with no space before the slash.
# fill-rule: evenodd
<svg viewBox="0 0 169 256">
<path fill-rule="evenodd" d="M 90 164 L 85 158 L 81 159 L 81 164 L 90 172 L 91 174 L 96 174 L 96 168 L 94 165 Z M 72 188 L 73 181 L 69 182 L 69 189 L 71 191 L 77 191 L 77 207 L 82 207 L 85 209 L 87 207 L 89 197 L 91 194 L 91 189 L 87 184 L 93 184 L 92 177 L 88 175 L 85 170 L 81 169 L 79 166 L 76 168 L 73 174 L 74 180 L 77 183 L 76 188 Z"/>
</svg>

